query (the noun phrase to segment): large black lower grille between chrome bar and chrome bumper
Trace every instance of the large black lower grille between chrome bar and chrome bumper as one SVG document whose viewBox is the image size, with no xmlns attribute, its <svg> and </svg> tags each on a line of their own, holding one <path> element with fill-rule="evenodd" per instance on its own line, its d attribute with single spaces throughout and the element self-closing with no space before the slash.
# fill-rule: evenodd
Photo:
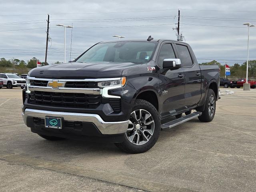
<svg viewBox="0 0 256 192">
<path fill-rule="evenodd" d="M 32 91 L 28 102 L 44 106 L 95 109 L 101 103 L 101 95 Z"/>
</svg>

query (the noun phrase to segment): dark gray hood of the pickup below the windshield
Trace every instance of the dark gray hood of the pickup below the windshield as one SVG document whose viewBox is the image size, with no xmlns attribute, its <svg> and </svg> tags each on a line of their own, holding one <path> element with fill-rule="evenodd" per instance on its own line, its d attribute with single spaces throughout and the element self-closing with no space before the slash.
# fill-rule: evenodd
<svg viewBox="0 0 256 192">
<path fill-rule="evenodd" d="M 121 77 L 126 68 L 140 64 L 124 62 L 64 63 L 32 69 L 28 76 L 36 78 L 87 79 Z"/>
</svg>

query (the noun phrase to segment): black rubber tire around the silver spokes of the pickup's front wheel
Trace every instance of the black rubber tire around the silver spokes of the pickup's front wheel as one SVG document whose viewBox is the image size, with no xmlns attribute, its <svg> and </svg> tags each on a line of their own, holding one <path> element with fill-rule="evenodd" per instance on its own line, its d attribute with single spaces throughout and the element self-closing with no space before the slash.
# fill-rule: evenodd
<svg viewBox="0 0 256 192">
<path fill-rule="evenodd" d="M 146 141 L 146 143 L 138 145 L 136 143 L 139 143 L 140 142 L 140 138 L 143 139 L 143 137 L 142 137 L 142 134 L 138 134 L 137 135 L 137 132 L 140 132 L 140 129 L 138 128 L 138 130 L 136 130 L 137 127 L 136 128 L 134 127 L 134 124 L 133 124 L 132 121 L 134 119 L 137 119 L 136 111 L 138 111 L 138 110 L 140 111 L 140 109 L 145 111 L 145 112 L 148 112 L 151 115 L 150 119 L 154 120 L 154 124 L 152 125 L 152 123 L 151 123 L 148 126 L 150 126 L 150 127 L 154 126 L 154 130 L 152 132 L 152 135 L 148 134 L 149 137 L 148 137 L 148 141 Z M 133 118 L 132 114 L 135 115 L 135 118 Z M 139 119 L 141 119 L 141 122 L 142 122 L 142 119 L 143 120 L 145 119 L 145 117 L 146 116 L 142 117 L 142 115 L 140 115 Z M 148 120 L 148 118 L 146 118 L 146 120 Z M 144 120 L 143 123 L 145 123 L 146 120 Z M 131 125 L 135 130 L 133 128 L 129 128 L 128 127 L 130 130 L 128 129 L 127 133 L 124 134 L 124 141 L 122 143 L 115 143 L 115 145 L 118 148 L 120 148 L 122 151 L 127 152 L 127 153 L 132 153 L 132 154 L 143 153 L 143 152 L 146 152 L 146 151 L 150 150 L 150 148 L 152 148 L 154 146 L 154 144 L 156 143 L 156 141 L 158 140 L 158 137 L 159 137 L 159 134 L 160 134 L 160 117 L 159 117 L 159 114 L 158 114 L 158 111 L 156 110 L 156 108 L 150 102 L 147 102 L 147 101 L 141 100 L 141 99 L 137 99 L 134 102 L 134 106 L 132 108 L 132 113 L 131 113 L 129 121 L 130 121 L 129 127 Z M 138 123 L 138 124 L 142 125 L 140 123 Z M 148 127 L 146 126 L 145 130 L 147 128 Z M 136 138 L 134 136 L 131 139 L 132 141 L 130 141 L 128 139 L 128 134 L 130 134 L 131 132 L 133 132 L 131 135 L 133 135 L 133 134 L 135 135 L 136 134 Z M 145 134 L 144 134 L 144 136 L 145 136 Z M 135 141 L 134 141 L 134 143 L 132 143 L 134 138 L 137 140 L 136 143 L 135 143 Z M 138 140 L 139 140 L 139 142 L 138 142 Z M 142 142 L 143 142 L 143 140 L 142 140 Z"/>
</svg>

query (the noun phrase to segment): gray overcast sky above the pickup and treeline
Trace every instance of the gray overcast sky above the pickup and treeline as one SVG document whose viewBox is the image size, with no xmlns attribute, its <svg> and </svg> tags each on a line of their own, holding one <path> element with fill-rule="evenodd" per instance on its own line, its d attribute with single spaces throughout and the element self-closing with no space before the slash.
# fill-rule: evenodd
<svg viewBox="0 0 256 192">
<path fill-rule="evenodd" d="M 166 38 L 176 40 L 178 9 L 180 32 L 198 62 L 218 60 L 222 64 L 243 63 L 247 58 L 248 27 L 256 25 L 255 0 L 0 0 L 0 58 L 44 61 L 46 19 L 50 14 L 48 63 L 76 58 L 96 42 L 126 39 Z M 225 27 L 228 26 L 228 27 Z M 25 30 L 24 30 L 25 29 Z M 26 30 L 29 29 L 29 30 Z M 207 60 L 209 59 L 209 60 Z M 256 27 L 250 30 L 250 59 L 256 59 Z"/>
</svg>

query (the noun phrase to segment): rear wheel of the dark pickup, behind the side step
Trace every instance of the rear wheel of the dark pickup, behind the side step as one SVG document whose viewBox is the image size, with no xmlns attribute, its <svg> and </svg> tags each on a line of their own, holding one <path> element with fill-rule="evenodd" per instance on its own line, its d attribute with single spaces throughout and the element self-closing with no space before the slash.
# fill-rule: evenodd
<svg viewBox="0 0 256 192">
<path fill-rule="evenodd" d="M 212 96 L 213 96 L 213 103 L 212 103 Z M 213 109 L 212 109 L 213 107 Z M 210 110 L 211 108 L 211 110 Z M 210 110 L 210 111 L 209 111 Z M 211 122 L 214 118 L 216 110 L 216 96 L 212 89 L 208 90 L 206 101 L 204 105 L 204 110 L 202 111 L 202 115 L 198 117 L 198 119 L 202 122 Z"/>
</svg>

